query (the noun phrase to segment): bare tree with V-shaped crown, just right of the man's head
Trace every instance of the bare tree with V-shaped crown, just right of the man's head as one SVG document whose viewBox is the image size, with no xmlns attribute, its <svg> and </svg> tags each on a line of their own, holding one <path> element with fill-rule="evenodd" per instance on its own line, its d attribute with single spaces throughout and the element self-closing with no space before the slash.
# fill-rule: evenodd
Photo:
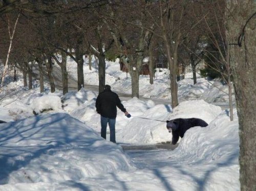
<svg viewBox="0 0 256 191">
<path fill-rule="evenodd" d="M 139 98 L 139 75 L 146 41 L 151 33 L 142 27 L 146 18 L 144 12 L 146 5 L 142 1 L 119 1 L 118 6 L 109 7 L 109 15 L 104 17 L 114 39 L 120 61 L 125 64 L 131 76 L 132 97 L 137 98 Z M 139 13 L 138 8 L 141 9 Z"/>
</svg>

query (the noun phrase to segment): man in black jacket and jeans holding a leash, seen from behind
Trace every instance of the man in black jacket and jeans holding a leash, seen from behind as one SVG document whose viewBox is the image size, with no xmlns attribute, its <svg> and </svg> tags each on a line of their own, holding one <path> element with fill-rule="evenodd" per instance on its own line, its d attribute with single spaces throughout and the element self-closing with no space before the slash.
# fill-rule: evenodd
<svg viewBox="0 0 256 191">
<path fill-rule="evenodd" d="M 116 142 L 116 107 L 118 107 L 122 112 L 124 112 L 124 114 L 127 117 L 131 117 L 131 115 L 123 107 L 123 104 L 121 104 L 121 100 L 119 99 L 118 95 L 115 92 L 111 91 L 110 85 L 104 86 L 104 90 L 101 93 L 99 93 L 97 97 L 95 106 L 97 113 L 100 114 L 101 137 L 106 139 L 106 126 L 109 123 L 110 141 Z"/>
</svg>

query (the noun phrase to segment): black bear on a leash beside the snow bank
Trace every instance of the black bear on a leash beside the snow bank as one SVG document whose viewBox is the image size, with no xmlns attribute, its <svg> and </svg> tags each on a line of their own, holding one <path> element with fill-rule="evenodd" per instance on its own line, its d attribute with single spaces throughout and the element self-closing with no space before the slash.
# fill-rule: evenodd
<svg viewBox="0 0 256 191">
<path fill-rule="evenodd" d="M 201 126 L 206 127 L 208 124 L 200 118 L 176 118 L 174 120 L 166 121 L 166 128 L 169 133 L 172 132 L 172 144 L 175 145 L 179 137 L 183 137 L 186 130 L 191 127 Z"/>
</svg>

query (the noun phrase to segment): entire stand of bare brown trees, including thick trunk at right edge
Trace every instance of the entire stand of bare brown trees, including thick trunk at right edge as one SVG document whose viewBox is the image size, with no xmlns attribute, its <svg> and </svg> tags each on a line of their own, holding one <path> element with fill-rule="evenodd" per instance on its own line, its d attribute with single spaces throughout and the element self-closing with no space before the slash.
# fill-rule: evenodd
<svg viewBox="0 0 256 191">
<path fill-rule="evenodd" d="M 139 10 L 139 11 L 138 11 Z M 139 98 L 139 75 L 149 57 L 150 83 L 164 57 L 170 71 L 172 107 L 178 103 L 181 68 L 204 61 L 201 74 L 234 86 L 240 126 L 241 190 L 256 190 L 256 2 L 246 1 L 0 1 L 1 87 L 8 68 L 18 68 L 32 88 L 32 65 L 38 64 L 55 91 L 52 65 L 61 67 L 63 94 L 68 92 L 67 56 L 77 63 L 77 89 L 83 79 L 83 56 L 95 55 L 99 92 L 105 85 L 105 60 L 119 58 Z M 46 66 L 46 67 L 43 67 Z M 45 70 L 46 68 L 46 70 Z M 232 117 L 230 117 L 232 120 Z"/>
</svg>

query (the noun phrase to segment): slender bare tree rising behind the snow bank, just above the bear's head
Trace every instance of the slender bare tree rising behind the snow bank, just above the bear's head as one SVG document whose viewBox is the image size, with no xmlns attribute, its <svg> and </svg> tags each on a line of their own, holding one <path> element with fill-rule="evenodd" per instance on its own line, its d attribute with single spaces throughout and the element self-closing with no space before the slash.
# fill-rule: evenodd
<svg viewBox="0 0 256 191">
<path fill-rule="evenodd" d="M 170 90 L 172 97 L 172 107 L 178 105 L 178 49 L 190 25 L 186 21 L 186 8 L 188 1 L 157 1 L 147 10 L 148 17 L 152 19 L 156 26 L 156 35 L 162 38 L 165 55 L 168 61 Z M 157 9 L 156 9 L 157 8 Z M 151 31 L 148 27 L 147 30 Z"/>
</svg>

